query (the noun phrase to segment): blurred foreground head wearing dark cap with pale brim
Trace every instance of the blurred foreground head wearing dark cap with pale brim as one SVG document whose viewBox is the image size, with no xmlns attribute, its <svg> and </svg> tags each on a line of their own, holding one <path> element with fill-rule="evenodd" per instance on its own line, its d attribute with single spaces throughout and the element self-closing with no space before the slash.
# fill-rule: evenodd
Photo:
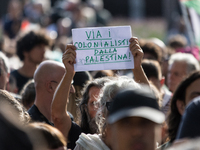
<svg viewBox="0 0 200 150">
<path fill-rule="evenodd" d="M 114 98 L 107 118 L 106 135 L 113 150 L 153 150 L 165 120 L 149 89 L 127 89 Z"/>
</svg>

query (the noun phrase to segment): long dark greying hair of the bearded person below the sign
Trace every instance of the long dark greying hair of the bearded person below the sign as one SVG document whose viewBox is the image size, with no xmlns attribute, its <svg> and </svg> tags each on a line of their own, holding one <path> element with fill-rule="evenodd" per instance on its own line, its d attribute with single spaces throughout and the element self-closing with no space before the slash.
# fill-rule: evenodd
<svg viewBox="0 0 200 150">
<path fill-rule="evenodd" d="M 88 82 L 87 85 L 83 89 L 83 94 L 82 94 L 83 97 L 79 104 L 80 126 L 82 129 L 82 132 L 84 132 L 86 134 L 91 133 L 87 112 L 85 110 L 85 107 L 88 104 L 88 100 L 89 100 L 89 91 L 92 87 L 97 87 L 97 88 L 101 89 L 104 86 L 104 84 L 108 81 L 110 81 L 110 79 L 108 77 L 97 78 L 97 79 L 94 79 L 93 81 Z M 86 109 L 87 109 L 87 107 L 86 107 Z M 91 133 L 91 134 L 93 134 L 93 133 Z"/>
</svg>

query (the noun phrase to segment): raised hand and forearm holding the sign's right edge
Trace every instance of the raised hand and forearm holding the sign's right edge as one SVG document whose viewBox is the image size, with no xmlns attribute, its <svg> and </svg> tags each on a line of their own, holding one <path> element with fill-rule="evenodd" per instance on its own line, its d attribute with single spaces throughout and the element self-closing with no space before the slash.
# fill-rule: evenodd
<svg viewBox="0 0 200 150">
<path fill-rule="evenodd" d="M 132 69 L 134 74 L 134 80 L 138 83 L 149 85 L 149 81 L 141 65 L 144 53 L 139 45 L 138 39 L 136 37 L 132 37 L 130 38 L 129 42 L 130 51 L 134 58 L 134 69 Z"/>
</svg>

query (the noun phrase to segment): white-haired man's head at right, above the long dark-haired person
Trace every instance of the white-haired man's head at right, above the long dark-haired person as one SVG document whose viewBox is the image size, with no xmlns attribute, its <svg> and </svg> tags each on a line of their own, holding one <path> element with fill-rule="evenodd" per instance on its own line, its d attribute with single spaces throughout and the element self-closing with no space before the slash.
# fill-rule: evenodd
<svg viewBox="0 0 200 150">
<path fill-rule="evenodd" d="M 175 53 L 169 59 L 168 87 L 173 93 L 179 83 L 191 72 L 199 70 L 199 63 L 192 54 Z"/>
</svg>

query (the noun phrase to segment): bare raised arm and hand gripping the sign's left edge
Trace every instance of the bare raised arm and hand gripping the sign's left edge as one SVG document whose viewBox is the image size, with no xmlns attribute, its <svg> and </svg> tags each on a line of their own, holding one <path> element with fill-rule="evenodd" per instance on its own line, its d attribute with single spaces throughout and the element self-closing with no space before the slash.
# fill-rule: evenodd
<svg viewBox="0 0 200 150">
<path fill-rule="evenodd" d="M 62 61 L 65 65 L 66 72 L 60 81 L 53 97 L 51 116 L 53 123 L 63 135 L 68 139 L 68 133 L 71 128 L 71 118 L 67 113 L 67 103 L 75 71 L 74 63 L 76 58 L 76 47 L 67 45 L 66 51 L 63 54 Z"/>
</svg>

